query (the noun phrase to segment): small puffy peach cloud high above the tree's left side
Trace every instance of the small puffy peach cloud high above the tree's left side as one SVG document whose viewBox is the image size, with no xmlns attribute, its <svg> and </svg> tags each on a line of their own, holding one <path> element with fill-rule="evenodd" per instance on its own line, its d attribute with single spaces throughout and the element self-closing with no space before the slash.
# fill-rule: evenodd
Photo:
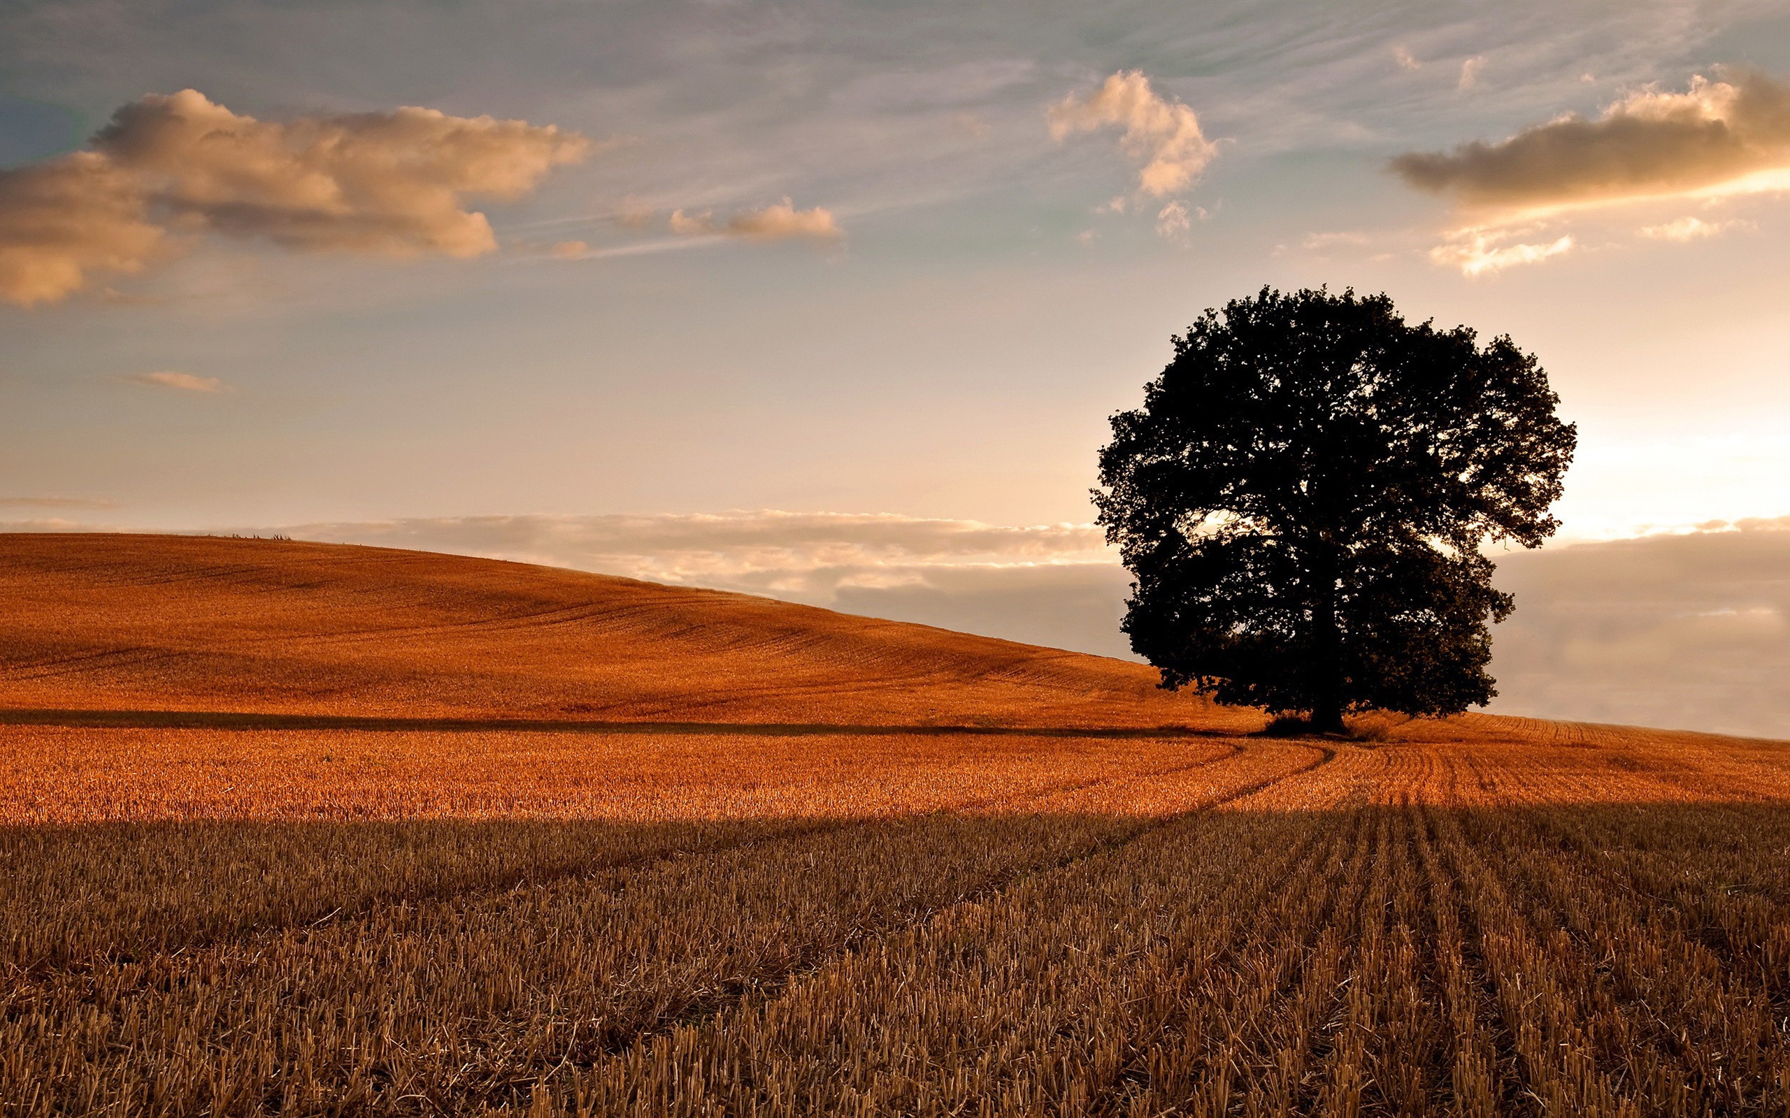
<svg viewBox="0 0 1790 1118">
<path fill-rule="evenodd" d="M 1158 199 L 1190 186 L 1217 154 L 1217 145 L 1199 131 L 1194 111 L 1158 97 L 1140 70 L 1121 70 L 1087 97 L 1065 97 L 1045 113 L 1045 120 L 1053 140 L 1122 127 L 1126 152 L 1144 159 L 1138 188 Z"/>
</svg>

